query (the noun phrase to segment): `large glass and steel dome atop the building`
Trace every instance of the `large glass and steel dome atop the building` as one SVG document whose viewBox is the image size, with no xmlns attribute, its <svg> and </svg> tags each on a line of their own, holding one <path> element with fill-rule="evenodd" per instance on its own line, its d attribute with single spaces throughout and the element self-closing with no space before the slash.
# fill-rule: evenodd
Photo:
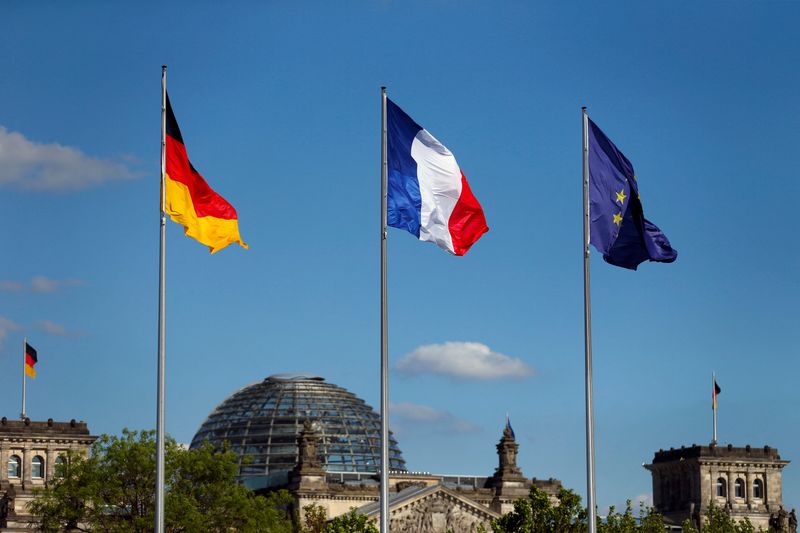
<svg viewBox="0 0 800 533">
<path fill-rule="evenodd" d="M 380 416 L 364 400 L 313 374 L 275 374 L 239 389 L 219 404 L 192 439 L 192 448 L 227 442 L 239 454 L 239 478 L 252 488 L 285 484 L 297 464 L 297 436 L 311 420 L 321 437 L 327 472 L 380 470 Z M 389 468 L 405 470 L 390 434 Z"/>
</svg>

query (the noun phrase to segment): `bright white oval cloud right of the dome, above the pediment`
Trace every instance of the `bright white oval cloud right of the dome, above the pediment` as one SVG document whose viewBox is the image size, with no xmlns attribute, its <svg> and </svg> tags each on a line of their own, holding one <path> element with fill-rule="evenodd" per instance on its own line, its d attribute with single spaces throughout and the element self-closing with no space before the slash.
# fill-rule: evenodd
<svg viewBox="0 0 800 533">
<path fill-rule="evenodd" d="M 401 357 L 395 368 L 408 375 L 440 374 L 460 379 L 521 379 L 533 375 L 522 359 L 493 352 L 480 342 L 427 344 Z"/>
</svg>

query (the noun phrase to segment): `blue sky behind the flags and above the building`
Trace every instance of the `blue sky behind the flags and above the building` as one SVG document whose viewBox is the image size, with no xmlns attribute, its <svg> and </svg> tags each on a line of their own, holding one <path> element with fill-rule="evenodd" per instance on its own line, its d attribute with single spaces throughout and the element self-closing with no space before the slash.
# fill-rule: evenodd
<svg viewBox="0 0 800 533">
<path fill-rule="evenodd" d="M 386 85 L 455 153 L 490 227 L 461 258 L 390 230 L 391 425 L 410 468 L 492 473 L 508 412 L 523 471 L 585 494 L 582 105 L 680 254 L 638 272 L 593 255 L 599 505 L 650 494 L 641 464 L 659 448 L 710 441 L 712 371 L 720 441 L 800 462 L 799 16 L 794 2 L 5 2 L 3 414 L 19 412 L 27 336 L 32 418 L 155 425 L 166 63 L 189 156 L 250 245 L 209 256 L 168 227 L 178 440 L 273 373 L 378 405 Z"/>
</svg>

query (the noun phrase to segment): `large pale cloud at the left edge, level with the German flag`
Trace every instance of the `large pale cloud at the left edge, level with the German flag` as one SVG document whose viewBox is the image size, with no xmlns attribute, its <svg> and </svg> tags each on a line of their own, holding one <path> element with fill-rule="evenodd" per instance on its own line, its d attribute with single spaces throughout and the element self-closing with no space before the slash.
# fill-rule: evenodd
<svg viewBox="0 0 800 533">
<path fill-rule="evenodd" d="M 134 177 L 123 162 L 90 157 L 70 146 L 43 144 L 0 126 L 0 186 L 73 191 Z"/>
</svg>

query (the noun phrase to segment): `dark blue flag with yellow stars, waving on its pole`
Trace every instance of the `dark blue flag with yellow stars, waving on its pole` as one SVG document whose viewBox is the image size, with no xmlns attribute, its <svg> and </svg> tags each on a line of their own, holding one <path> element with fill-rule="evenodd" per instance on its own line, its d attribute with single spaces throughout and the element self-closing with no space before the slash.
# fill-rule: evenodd
<svg viewBox="0 0 800 533">
<path fill-rule="evenodd" d="M 590 242 L 607 263 L 636 270 L 644 261 L 672 263 L 678 251 L 644 218 L 633 165 L 589 120 Z"/>
</svg>

